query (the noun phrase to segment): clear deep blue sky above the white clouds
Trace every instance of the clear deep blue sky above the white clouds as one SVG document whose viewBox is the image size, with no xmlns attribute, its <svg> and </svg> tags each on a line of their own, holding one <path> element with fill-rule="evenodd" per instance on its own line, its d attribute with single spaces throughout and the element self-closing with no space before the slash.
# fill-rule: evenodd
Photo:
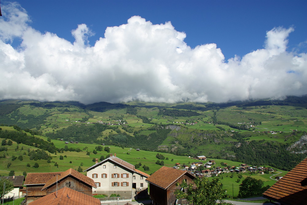
<svg viewBox="0 0 307 205">
<path fill-rule="evenodd" d="M 2 0 L 2 2 L 5 2 Z M 215 43 L 225 59 L 243 56 L 263 47 L 266 31 L 289 28 L 288 49 L 307 40 L 307 1 L 99 1 L 99 0 L 20 0 L 31 17 L 31 26 L 74 41 L 71 30 L 86 24 L 95 36 L 94 44 L 108 26 L 126 24 L 132 16 L 141 16 L 153 24 L 171 21 L 177 31 L 185 32 L 185 42 L 195 47 Z M 306 52 L 306 46 L 300 47 Z"/>
</svg>

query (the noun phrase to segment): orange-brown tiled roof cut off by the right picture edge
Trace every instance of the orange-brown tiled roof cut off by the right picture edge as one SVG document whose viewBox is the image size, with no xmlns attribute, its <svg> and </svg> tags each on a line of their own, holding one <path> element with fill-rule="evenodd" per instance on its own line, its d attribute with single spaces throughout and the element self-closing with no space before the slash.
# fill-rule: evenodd
<svg viewBox="0 0 307 205">
<path fill-rule="evenodd" d="M 305 204 L 307 201 L 307 158 L 263 193 L 263 197 L 282 204 Z"/>
</svg>

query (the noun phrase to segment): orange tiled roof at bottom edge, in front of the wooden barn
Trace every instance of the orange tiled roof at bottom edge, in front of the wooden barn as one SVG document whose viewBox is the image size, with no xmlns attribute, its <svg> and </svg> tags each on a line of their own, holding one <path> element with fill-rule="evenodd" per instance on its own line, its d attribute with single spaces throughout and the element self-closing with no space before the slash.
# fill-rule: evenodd
<svg viewBox="0 0 307 205">
<path fill-rule="evenodd" d="M 29 205 L 100 205 L 100 200 L 77 192 L 71 188 L 64 187 L 56 192 L 48 194 L 42 198 L 36 199 Z"/>
</svg>

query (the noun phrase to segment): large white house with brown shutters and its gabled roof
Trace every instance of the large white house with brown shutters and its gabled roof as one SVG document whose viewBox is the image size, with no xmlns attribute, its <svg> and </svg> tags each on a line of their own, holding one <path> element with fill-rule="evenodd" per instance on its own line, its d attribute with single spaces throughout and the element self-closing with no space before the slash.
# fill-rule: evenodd
<svg viewBox="0 0 307 205">
<path fill-rule="evenodd" d="M 98 162 L 87 171 L 87 177 L 94 180 L 96 187 L 93 194 L 119 194 L 120 196 L 147 195 L 148 184 L 145 181 L 148 174 L 135 169 L 134 165 L 110 154 L 110 157 Z"/>
</svg>

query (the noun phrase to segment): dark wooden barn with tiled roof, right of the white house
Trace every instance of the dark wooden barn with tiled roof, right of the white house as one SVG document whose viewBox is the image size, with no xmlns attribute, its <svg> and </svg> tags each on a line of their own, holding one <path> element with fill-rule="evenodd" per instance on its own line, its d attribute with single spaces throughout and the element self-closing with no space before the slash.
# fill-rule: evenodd
<svg viewBox="0 0 307 205">
<path fill-rule="evenodd" d="M 174 205 L 188 204 L 185 199 L 176 199 L 174 194 L 178 182 L 181 184 L 185 180 L 188 184 L 193 183 L 195 176 L 178 169 L 163 166 L 146 179 L 149 183 L 150 199 L 153 205 Z"/>
</svg>

